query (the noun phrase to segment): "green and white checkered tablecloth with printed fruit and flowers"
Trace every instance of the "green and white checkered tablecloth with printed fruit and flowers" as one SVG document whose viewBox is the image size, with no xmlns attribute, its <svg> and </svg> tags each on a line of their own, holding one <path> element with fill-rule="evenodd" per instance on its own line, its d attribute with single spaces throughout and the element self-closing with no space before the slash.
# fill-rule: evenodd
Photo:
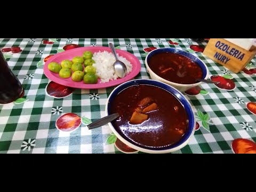
<svg viewBox="0 0 256 192">
<path fill-rule="evenodd" d="M 53 44 L 44 44 L 43 40 Z M 174 43 L 171 43 L 174 42 Z M 25 89 L 25 102 L 0 105 L 0 153 L 122 153 L 115 145 L 115 138 L 108 125 L 87 130 L 81 124 L 74 132 L 62 132 L 55 122 L 62 114 L 74 113 L 95 121 L 105 116 L 108 95 L 115 87 L 99 90 L 75 90 L 66 98 L 56 99 L 45 93 L 51 82 L 43 73 L 43 60 L 57 54 L 67 44 L 80 46 L 115 47 L 134 54 L 141 63 L 141 71 L 135 77 L 150 78 L 145 66 L 147 47 L 175 47 L 189 51 L 202 59 L 210 75 L 230 75 L 236 84 L 233 91 L 218 89 L 213 84 L 202 83 L 205 94 L 186 95 L 195 114 L 201 111 L 210 117 L 189 144 L 175 153 L 233 153 L 231 142 L 237 138 L 256 141 L 256 115 L 246 108 L 246 103 L 256 102 L 256 74 L 235 74 L 213 62 L 201 52 L 193 52 L 190 45 L 200 45 L 190 39 L 0 39 L 0 49 L 20 47 L 19 53 L 4 53 L 7 63 Z M 62 50 L 63 51 L 63 50 Z M 255 66 L 255 58 L 252 66 Z M 197 114 L 198 115 L 198 114 Z M 113 142 L 109 142 L 114 140 Z M 141 153 L 141 152 L 137 152 Z"/>
</svg>

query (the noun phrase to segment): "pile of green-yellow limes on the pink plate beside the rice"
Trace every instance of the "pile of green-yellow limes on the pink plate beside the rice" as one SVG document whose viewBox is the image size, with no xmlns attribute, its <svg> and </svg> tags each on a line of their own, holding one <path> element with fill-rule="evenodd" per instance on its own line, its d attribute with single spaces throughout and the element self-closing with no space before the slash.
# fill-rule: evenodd
<svg viewBox="0 0 256 192">
<path fill-rule="evenodd" d="M 98 82 L 96 69 L 92 66 L 95 61 L 92 59 L 93 53 L 85 51 L 83 57 L 76 56 L 71 61 L 66 59 L 60 62 L 50 62 L 48 69 L 54 73 L 59 73 L 61 78 L 69 78 L 74 82 L 84 81 L 85 84 L 95 84 Z M 84 67 L 83 67 L 84 64 Z M 72 73 L 73 71 L 73 73 Z"/>
</svg>

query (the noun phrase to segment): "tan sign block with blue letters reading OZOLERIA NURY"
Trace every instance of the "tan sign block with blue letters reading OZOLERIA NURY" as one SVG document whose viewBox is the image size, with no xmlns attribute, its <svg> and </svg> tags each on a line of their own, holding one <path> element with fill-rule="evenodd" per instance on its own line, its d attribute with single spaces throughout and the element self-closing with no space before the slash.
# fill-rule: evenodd
<svg viewBox="0 0 256 192">
<path fill-rule="evenodd" d="M 252 60 L 256 51 L 247 51 L 225 39 L 211 38 L 203 53 L 213 61 L 238 73 Z"/>
</svg>

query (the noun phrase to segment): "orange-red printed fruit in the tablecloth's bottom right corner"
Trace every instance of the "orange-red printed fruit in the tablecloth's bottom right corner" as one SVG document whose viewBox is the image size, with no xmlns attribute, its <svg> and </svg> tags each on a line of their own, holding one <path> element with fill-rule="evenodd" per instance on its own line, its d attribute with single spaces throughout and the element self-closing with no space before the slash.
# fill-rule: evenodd
<svg viewBox="0 0 256 192">
<path fill-rule="evenodd" d="M 232 149 L 235 154 L 256 154 L 256 143 L 248 139 L 235 139 Z"/>
</svg>

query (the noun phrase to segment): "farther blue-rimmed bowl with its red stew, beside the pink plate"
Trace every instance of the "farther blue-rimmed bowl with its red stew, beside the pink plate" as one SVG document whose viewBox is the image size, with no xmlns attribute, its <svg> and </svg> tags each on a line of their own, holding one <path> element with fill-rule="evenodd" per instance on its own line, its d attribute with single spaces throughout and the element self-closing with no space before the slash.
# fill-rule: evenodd
<svg viewBox="0 0 256 192">
<path fill-rule="evenodd" d="M 151 51 L 145 63 L 151 79 L 167 83 L 181 92 L 200 85 L 202 82 L 196 79 L 207 79 L 209 75 L 209 70 L 201 59 L 174 48 Z"/>
</svg>

